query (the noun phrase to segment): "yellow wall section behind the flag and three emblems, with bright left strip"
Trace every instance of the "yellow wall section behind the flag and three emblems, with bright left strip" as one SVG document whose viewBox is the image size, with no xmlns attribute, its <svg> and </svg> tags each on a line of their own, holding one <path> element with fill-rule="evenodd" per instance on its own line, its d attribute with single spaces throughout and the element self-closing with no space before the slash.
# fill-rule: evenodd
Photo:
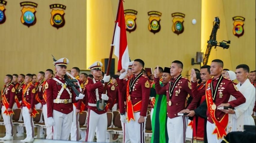
<svg viewBox="0 0 256 143">
<path fill-rule="evenodd" d="M 109 56 L 117 4 L 118 0 L 87 1 L 87 66 L 95 60 Z M 137 29 L 131 33 L 127 32 L 131 60 L 143 59 L 145 67 L 155 67 L 157 64 L 168 67 L 173 60 L 180 60 L 184 63 L 184 76 L 192 67 L 199 67 L 199 65 L 191 66 L 191 58 L 200 51 L 200 0 L 127 0 L 124 2 L 124 9 L 138 11 Z M 148 30 L 147 12 L 152 10 L 162 13 L 161 30 L 155 34 Z M 174 12 L 185 14 L 185 30 L 179 36 L 171 30 L 173 24 L 171 14 Z M 92 13 L 93 16 L 89 16 Z M 196 25 L 191 23 L 192 19 L 197 19 Z"/>
</svg>

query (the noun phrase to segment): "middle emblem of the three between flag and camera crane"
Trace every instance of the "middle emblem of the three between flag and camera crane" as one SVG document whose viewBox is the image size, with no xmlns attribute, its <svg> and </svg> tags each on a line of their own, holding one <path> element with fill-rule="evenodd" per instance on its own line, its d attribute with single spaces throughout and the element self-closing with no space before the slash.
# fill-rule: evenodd
<svg viewBox="0 0 256 143">
<path fill-rule="evenodd" d="M 160 17 L 162 13 L 158 11 L 149 11 L 148 12 L 149 17 L 149 31 L 152 33 L 157 33 L 161 30 L 161 25 L 160 25 Z"/>
</svg>

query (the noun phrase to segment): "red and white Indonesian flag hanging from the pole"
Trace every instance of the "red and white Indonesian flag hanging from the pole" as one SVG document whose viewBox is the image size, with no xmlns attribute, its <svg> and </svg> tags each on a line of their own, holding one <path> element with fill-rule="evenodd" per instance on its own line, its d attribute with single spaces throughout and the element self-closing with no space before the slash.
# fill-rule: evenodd
<svg viewBox="0 0 256 143">
<path fill-rule="evenodd" d="M 116 30 L 114 35 L 113 46 L 115 46 L 114 54 L 118 58 L 118 67 L 117 70 L 125 69 L 125 72 L 120 75 L 120 79 L 124 78 L 127 73 L 129 65 L 129 52 L 127 45 L 127 37 L 125 30 L 125 16 L 124 16 L 124 7 L 123 1 L 119 0 L 119 7 L 117 10 L 116 17 Z"/>
</svg>

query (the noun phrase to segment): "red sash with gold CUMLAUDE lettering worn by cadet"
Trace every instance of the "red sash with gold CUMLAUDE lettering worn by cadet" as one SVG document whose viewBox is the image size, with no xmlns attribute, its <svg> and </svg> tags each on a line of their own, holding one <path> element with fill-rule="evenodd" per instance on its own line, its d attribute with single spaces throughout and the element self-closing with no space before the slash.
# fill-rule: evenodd
<svg viewBox="0 0 256 143">
<path fill-rule="evenodd" d="M 215 117 L 215 110 L 212 109 L 212 105 L 213 103 L 213 99 L 212 99 L 212 90 L 211 90 L 211 82 L 212 79 L 209 79 L 206 82 L 206 103 L 207 103 L 207 109 L 210 113 L 210 116 L 212 118 L 212 121 L 214 122 L 214 124 L 216 125 L 215 129 L 213 130 L 212 134 L 217 134 L 217 138 L 218 139 L 222 139 L 224 136 L 227 135 L 226 133 L 226 127 L 227 127 L 227 123 L 228 123 L 228 114 L 225 114 L 223 116 L 223 118 L 221 119 L 220 122 L 217 121 L 216 117 Z M 218 87 L 216 86 L 216 89 Z M 215 105 L 216 106 L 216 105 Z"/>
</svg>

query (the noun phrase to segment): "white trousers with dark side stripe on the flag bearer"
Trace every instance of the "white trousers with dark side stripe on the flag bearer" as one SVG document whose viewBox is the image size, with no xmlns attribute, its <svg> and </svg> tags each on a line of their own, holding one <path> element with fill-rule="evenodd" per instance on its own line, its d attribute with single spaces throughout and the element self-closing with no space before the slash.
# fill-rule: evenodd
<svg viewBox="0 0 256 143">
<path fill-rule="evenodd" d="M 106 141 L 107 131 L 107 113 L 97 114 L 91 109 L 88 109 L 86 142 L 93 142 L 96 131 L 97 142 Z"/>
</svg>

